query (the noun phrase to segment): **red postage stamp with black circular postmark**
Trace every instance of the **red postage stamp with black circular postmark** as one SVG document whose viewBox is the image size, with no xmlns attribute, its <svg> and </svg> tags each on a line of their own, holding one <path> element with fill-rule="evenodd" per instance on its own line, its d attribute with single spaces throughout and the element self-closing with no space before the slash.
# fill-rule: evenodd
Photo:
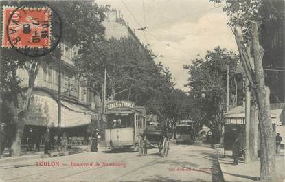
<svg viewBox="0 0 285 182">
<path fill-rule="evenodd" d="M 2 47 L 49 48 L 49 8 L 3 8 Z"/>
</svg>

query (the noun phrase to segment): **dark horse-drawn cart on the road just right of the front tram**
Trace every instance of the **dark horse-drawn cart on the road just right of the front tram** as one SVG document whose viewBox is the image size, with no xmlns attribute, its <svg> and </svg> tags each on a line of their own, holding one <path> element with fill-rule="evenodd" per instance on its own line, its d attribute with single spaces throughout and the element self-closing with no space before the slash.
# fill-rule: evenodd
<svg viewBox="0 0 285 182">
<path fill-rule="evenodd" d="M 161 126 L 147 125 L 143 135 L 147 139 L 147 148 L 157 145 L 159 148 L 159 155 L 165 157 L 168 155 L 170 137 L 168 137 L 168 131 L 164 130 Z"/>
</svg>

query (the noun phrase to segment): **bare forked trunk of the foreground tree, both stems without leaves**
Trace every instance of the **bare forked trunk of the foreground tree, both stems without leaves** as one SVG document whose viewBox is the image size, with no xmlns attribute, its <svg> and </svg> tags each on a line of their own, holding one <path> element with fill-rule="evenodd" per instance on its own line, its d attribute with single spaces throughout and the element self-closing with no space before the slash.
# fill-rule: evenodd
<svg viewBox="0 0 285 182">
<path fill-rule="evenodd" d="M 245 45 L 241 27 L 234 27 L 233 33 L 240 52 L 242 67 L 247 74 L 253 93 L 255 93 L 255 98 L 257 98 L 258 119 L 260 122 L 260 179 L 269 181 L 275 176 L 275 136 L 273 135 L 270 115 L 270 91 L 264 84 L 262 67 L 264 49 L 262 49 L 258 40 L 258 23 L 252 22 L 252 42 L 249 44 L 251 47 Z M 251 49 L 253 50 L 252 53 Z"/>
</svg>

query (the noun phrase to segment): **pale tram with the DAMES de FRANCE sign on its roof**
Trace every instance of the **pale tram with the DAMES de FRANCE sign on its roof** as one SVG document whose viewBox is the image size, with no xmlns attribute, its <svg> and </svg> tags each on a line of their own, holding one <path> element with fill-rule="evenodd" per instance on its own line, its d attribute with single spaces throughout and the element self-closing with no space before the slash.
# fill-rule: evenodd
<svg viewBox="0 0 285 182">
<path fill-rule="evenodd" d="M 146 128 L 146 109 L 135 102 L 114 101 L 106 105 L 106 147 L 111 150 L 135 148 Z"/>
</svg>

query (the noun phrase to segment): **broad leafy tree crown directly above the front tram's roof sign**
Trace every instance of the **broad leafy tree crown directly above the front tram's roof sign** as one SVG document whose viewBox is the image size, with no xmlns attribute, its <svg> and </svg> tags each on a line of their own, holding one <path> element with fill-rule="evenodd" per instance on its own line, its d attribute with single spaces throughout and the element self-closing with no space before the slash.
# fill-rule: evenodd
<svg viewBox="0 0 285 182">
<path fill-rule="evenodd" d="M 155 64 L 151 52 L 132 38 L 111 38 L 92 45 L 97 51 L 73 59 L 78 74 L 100 93 L 107 71 L 106 93 L 113 100 L 133 100 L 146 106 L 149 98 L 172 87 L 171 74 Z"/>
</svg>

